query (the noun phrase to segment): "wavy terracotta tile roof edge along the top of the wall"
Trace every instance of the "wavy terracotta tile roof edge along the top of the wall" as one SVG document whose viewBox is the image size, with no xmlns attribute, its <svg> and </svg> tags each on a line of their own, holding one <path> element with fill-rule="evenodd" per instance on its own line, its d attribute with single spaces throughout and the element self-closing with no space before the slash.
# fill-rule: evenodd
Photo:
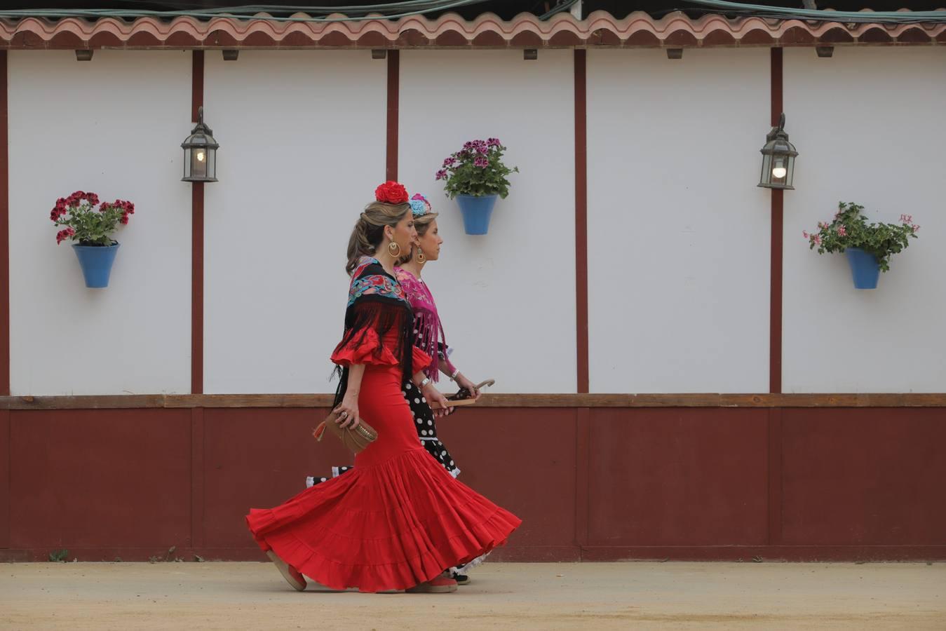
<svg viewBox="0 0 946 631">
<path fill-rule="evenodd" d="M 301 15 L 301 14 L 297 14 Z M 360 22 L 275 22 L 181 17 L 169 22 L 65 18 L 0 20 L 0 48 L 96 47 L 571 47 L 571 46 L 771 46 L 814 44 L 943 44 L 946 25 L 814 23 L 720 15 L 690 18 L 681 12 L 655 19 L 636 12 L 623 19 L 595 11 L 576 21 L 559 13 L 548 21 L 522 13 L 509 21 L 486 13 L 466 21 L 456 14 L 436 20 L 410 16 Z M 336 16 L 342 17 L 342 16 Z"/>
</svg>

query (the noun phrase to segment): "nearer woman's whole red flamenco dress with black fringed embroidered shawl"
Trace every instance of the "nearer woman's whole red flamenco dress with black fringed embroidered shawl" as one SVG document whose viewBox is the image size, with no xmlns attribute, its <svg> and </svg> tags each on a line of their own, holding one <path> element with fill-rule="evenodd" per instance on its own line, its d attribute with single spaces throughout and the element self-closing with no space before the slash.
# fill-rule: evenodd
<svg viewBox="0 0 946 631">
<path fill-rule="evenodd" d="M 276 506 L 251 509 L 247 525 L 264 551 L 324 586 L 406 589 L 503 544 L 521 520 L 455 480 L 417 440 L 401 391 L 430 357 L 412 344 L 412 309 L 397 281 L 363 258 L 352 274 L 345 332 L 332 355 L 342 375 L 365 364 L 359 415 L 377 441 L 343 476 Z"/>
</svg>

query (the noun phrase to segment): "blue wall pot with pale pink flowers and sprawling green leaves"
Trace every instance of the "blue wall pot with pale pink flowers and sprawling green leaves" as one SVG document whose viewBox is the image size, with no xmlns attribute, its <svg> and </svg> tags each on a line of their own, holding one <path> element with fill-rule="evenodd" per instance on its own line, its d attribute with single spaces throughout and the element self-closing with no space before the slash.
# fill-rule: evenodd
<svg viewBox="0 0 946 631">
<path fill-rule="evenodd" d="M 890 269 L 890 256 L 910 245 L 917 238 L 920 226 L 912 215 L 901 215 L 900 223 L 867 223 L 861 212 L 864 206 L 854 202 L 838 203 L 831 223 L 818 221 L 818 232 L 802 232 L 808 239 L 809 249 L 818 254 L 843 252 L 848 256 L 850 272 L 856 289 L 877 289 L 880 272 Z"/>
</svg>

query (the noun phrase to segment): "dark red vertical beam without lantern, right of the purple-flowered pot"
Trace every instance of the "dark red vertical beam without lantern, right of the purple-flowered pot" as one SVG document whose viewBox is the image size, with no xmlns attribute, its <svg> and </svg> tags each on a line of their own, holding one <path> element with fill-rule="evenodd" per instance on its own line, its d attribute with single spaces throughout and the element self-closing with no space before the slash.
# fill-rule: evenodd
<svg viewBox="0 0 946 631">
<path fill-rule="evenodd" d="M 575 312 L 578 392 L 588 392 L 587 51 L 575 49 Z"/>
</svg>

